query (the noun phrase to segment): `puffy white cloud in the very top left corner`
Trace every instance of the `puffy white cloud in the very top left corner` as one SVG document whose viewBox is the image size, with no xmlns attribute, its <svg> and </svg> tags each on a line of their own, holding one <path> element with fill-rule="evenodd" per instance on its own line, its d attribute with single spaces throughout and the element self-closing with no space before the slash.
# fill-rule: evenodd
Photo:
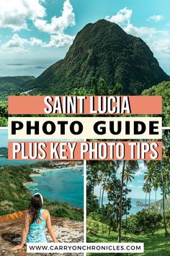
<svg viewBox="0 0 170 256">
<path fill-rule="evenodd" d="M 27 29 L 27 20 L 45 17 L 45 8 L 40 0 L 0 1 L 0 27 L 14 31 Z"/>
</svg>

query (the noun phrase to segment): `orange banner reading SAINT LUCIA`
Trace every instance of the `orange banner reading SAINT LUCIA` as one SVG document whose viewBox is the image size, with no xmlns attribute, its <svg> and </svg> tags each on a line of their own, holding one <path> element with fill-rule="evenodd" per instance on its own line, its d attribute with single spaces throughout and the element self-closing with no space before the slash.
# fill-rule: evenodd
<svg viewBox="0 0 170 256">
<path fill-rule="evenodd" d="M 9 96 L 9 114 L 161 114 L 161 96 Z"/>
</svg>

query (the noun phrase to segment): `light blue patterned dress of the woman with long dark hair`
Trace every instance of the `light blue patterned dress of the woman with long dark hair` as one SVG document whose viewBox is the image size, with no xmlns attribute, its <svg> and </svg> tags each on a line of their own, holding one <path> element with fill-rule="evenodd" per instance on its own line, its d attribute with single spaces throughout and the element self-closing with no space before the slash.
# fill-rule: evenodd
<svg viewBox="0 0 170 256">
<path fill-rule="evenodd" d="M 37 223 L 37 220 L 35 220 L 34 223 L 30 225 L 30 229 L 27 234 L 26 243 L 47 243 L 47 237 L 45 234 L 45 226 L 46 222 L 41 217 L 43 213 L 43 209 L 40 209 L 40 215 L 39 219 L 41 223 Z"/>
</svg>

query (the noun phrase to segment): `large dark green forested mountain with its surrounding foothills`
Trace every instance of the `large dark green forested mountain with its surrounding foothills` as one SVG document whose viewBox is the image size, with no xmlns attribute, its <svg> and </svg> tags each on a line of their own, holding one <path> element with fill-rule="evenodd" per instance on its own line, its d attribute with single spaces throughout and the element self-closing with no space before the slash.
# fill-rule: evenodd
<svg viewBox="0 0 170 256">
<path fill-rule="evenodd" d="M 0 126 L 7 126 L 4 102 L 7 95 L 24 92 L 26 95 L 140 95 L 142 92 L 162 95 L 163 125 L 169 126 L 170 84 L 163 82 L 169 80 L 143 40 L 128 35 L 112 22 L 99 20 L 86 25 L 65 59 L 46 69 L 40 77 L 0 77 Z"/>
</svg>

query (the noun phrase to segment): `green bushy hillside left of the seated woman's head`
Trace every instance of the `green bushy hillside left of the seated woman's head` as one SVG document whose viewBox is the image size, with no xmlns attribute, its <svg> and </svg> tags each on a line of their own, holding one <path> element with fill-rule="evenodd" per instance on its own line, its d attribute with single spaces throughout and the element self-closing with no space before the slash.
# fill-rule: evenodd
<svg viewBox="0 0 170 256">
<path fill-rule="evenodd" d="M 32 182 L 29 166 L 1 166 L 0 215 L 27 209 L 30 191 L 23 185 Z"/>
</svg>

